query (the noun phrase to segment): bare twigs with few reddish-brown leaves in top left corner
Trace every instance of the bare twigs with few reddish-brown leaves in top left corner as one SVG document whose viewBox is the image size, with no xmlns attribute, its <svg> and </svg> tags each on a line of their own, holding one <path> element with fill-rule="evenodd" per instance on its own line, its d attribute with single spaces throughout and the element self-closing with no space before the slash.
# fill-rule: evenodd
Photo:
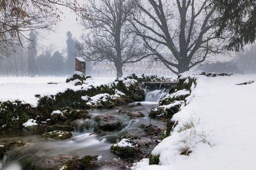
<svg viewBox="0 0 256 170">
<path fill-rule="evenodd" d="M 8 55 L 16 40 L 22 45 L 26 32 L 49 29 L 60 21 L 63 12 L 58 6 L 86 13 L 76 0 L 0 0 L 0 55 Z"/>
</svg>

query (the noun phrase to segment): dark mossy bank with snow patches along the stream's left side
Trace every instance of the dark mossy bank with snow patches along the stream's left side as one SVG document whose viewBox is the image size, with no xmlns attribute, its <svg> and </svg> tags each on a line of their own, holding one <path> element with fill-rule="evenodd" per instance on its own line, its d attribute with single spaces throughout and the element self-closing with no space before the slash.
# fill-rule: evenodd
<svg viewBox="0 0 256 170">
<path fill-rule="evenodd" d="M 106 85 L 86 86 L 86 77 L 75 73 L 68 83 L 83 81 L 80 90 L 67 89 L 56 95 L 38 97 L 36 107 L 22 101 L 0 102 L 0 132 L 8 129 L 23 129 L 29 119 L 36 120 L 37 125 L 67 125 L 79 118 L 90 118 L 86 111 L 90 108 L 113 108 L 120 104 L 143 100 L 143 89 L 138 85 L 135 75 L 116 79 Z M 80 110 L 80 111 L 79 111 Z M 54 111 L 60 111 L 61 114 Z M 77 113 L 76 113 L 77 111 Z M 83 112 L 83 113 L 82 113 Z M 28 125 L 26 127 L 29 127 Z M 33 128 L 28 130 L 33 130 Z"/>
</svg>

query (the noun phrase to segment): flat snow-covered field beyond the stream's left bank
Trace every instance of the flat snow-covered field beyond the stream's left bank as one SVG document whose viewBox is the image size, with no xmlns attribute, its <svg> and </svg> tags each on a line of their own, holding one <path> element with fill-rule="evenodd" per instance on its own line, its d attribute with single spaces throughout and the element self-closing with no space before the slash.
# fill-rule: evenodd
<svg viewBox="0 0 256 170">
<path fill-rule="evenodd" d="M 114 80 L 115 78 L 88 78 L 83 88 L 86 89 L 90 85 L 108 84 Z M 66 89 L 81 89 L 81 86 L 74 86 L 72 82 L 66 83 L 65 81 L 66 77 L 0 77 L 0 101 L 19 99 L 36 106 L 38 101 L 36 94 L 45 96 L 54 95 Z M 57 84 L 47 84 L 49 82 Z"/>
</svg>

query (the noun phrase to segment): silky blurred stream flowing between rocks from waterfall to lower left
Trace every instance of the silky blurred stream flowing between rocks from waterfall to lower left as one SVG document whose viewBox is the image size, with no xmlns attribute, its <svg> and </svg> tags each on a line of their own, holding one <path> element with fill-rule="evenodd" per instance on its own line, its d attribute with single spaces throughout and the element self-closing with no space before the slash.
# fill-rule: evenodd
<svg viewBox="0 0 256 170">
<path fill-rule="evenodd" d="M 167 94 L 166 90 L 154 90 L 148 92 L 145 90 L 145 101 L 141 102 L 145 110 L 157 106 L 157 102 Z M 142 124 L 149 125 L 147 111 L 136 103 L 129 103 L 112 109 L 93 109 L 88 110 L 92 117 L 108 113 L 118 118 L 125 129 L 131 135 L 143 134 Z M 127 114 L 119 113 L 119 110 L 141 111 L 145 117 L 131 118 Z M 163 129 L 164 122 L 161 120 L 152 120 L 152 124 Z M 84 155 L 101 155 L 101 160 L 118 159 L 118 156 L 111 153 L 109 148 L 113 143 L 127 136 L 125 129 L 109 132 L 105 135 L 92 134 L 95 121 L 77 120 L 76 127 L 72 132 L 73 137 L 64 141 L 54 139 L 44 139 L 40 136 L 23 134 L 22 132 L 12 132 L 0 136 L 0 141 L 26 141 L 25 146 L 13 148 L 8 151 L 0 162 L 0 169 L 4 170 L 27 170 L 33 169 L 35 165 L 40 164 L 42 169 L 57 169 L 63 164 L 63 160 L 77 155 L 79 158 Z M 105 168 L 107 169 L 107 167 Z"/>
</svg>

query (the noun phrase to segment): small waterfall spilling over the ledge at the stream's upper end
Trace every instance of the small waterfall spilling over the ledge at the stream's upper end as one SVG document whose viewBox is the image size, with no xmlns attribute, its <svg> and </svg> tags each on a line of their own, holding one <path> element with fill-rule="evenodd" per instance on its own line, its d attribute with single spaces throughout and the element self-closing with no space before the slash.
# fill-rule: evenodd
<svg viewBox="0 0 256 170">
<path fill-rule="evenodd" d="M 168 89 L 154 91 L 148 91 L 145 89 L 145 101 L 159 102 L 164 96 L 166 96 L 166 94 L 168 94 L 168 91 Z"/>
</svg>

